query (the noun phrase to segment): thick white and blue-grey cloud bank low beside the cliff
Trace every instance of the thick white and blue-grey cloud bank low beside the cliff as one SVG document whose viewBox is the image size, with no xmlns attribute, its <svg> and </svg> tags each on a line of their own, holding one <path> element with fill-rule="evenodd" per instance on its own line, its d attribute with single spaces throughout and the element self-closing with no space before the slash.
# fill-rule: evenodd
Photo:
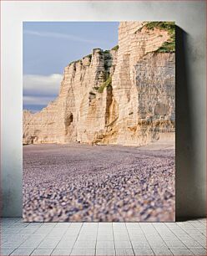
<svg viewBox="0 0 207 256">
<path fill-rule="evenodd" d="M 23 75 L 23 105 L 48 105 L 58 96 L 62 74 Z"/>
</svg>

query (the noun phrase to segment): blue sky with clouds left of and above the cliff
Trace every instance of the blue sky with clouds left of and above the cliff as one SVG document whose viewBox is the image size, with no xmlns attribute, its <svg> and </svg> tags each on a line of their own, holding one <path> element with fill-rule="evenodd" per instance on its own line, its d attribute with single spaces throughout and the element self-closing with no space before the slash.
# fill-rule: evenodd
<svg viewBox="0 0 207 256">
<path fill-rule="evenodd" d="M 23 109 L 36 112 L 58 96 L 63 69 L 118 44 L 118 22 L 24 22 Z"/>
</svg>

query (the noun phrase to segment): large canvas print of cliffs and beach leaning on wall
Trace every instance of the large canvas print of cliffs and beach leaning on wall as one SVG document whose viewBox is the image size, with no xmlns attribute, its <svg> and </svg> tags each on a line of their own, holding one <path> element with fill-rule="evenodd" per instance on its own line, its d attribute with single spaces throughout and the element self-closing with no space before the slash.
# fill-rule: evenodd
<svg viewBox="0 0 207 256">
<path fill-rule="evenodd" d="M 175 24 L 23 23 L 23 219 L 171 222 Z"/>
</svg>

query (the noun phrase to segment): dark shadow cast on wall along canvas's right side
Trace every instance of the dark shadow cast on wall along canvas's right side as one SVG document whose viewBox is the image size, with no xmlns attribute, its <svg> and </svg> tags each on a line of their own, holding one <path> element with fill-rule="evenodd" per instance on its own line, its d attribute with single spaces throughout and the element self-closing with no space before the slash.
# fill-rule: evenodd
<svg viewBox="0 0 207 256">
<path fill-rule="evenodd" d="M 176 216 L 188 219 L 198 216 L 200 190 L 196 185 L 195 144 L 193 137 L 192 102 L 187 54 L 188 34 L 176 27 Z M 204 211 L 203 211 L 204 212 Z M 198 216 L 199 217 L 199 216 Z M 178 220 L 178 219 L 176 219 Z"/>
</svg>

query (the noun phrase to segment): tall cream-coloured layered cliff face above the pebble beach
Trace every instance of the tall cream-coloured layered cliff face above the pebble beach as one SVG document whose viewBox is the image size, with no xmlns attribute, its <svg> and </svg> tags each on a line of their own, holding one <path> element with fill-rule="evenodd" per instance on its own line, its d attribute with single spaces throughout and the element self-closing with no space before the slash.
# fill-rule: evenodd
<svg viewBox="0 0 207 256">
<path fill-rule="evenodd" d="M 119 49 L 93 49 L 69 64 L 58 98 L 38 113 L 23 111 L 23 143 L 174 141 L 171 39 L 156 23 L 120 23 Z"/>
</svg>

